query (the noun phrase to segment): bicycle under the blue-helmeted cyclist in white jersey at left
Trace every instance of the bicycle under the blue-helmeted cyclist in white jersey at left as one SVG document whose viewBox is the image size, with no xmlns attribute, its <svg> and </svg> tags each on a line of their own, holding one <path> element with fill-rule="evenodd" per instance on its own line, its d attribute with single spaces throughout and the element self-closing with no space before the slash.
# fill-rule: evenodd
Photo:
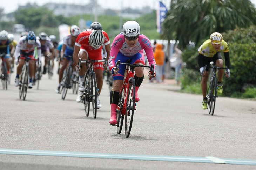
<svg viewBox="0 0 256 170">
<path fill-rule="evenodd" d="M 31 60 L 31 58 L 26 57 L 25 64 L 22 67 L 22 71 L 19 79 L 19 95 L 20 95 L 20 99 L 23 96 L 23 100 L 25 100 L 27 95 L 28 80 L 29 80 L 29 67 L 28 67 L 29 60 Z"/>
</svg>

